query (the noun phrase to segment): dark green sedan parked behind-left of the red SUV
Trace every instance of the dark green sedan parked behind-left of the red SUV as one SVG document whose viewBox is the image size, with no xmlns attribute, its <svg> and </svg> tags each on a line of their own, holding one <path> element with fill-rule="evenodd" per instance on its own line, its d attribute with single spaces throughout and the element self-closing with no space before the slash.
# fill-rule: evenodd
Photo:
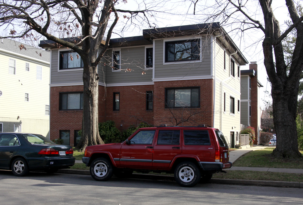
<svg viewBox="0 0 303 205">
<path fill-rule="evenodd" d="M 40 134 L 0 133 L 0 169 L 25 176 L 30 170 L 55 173 L 75 164 L 71 146 L 54 144 Z"/>
</svg>

